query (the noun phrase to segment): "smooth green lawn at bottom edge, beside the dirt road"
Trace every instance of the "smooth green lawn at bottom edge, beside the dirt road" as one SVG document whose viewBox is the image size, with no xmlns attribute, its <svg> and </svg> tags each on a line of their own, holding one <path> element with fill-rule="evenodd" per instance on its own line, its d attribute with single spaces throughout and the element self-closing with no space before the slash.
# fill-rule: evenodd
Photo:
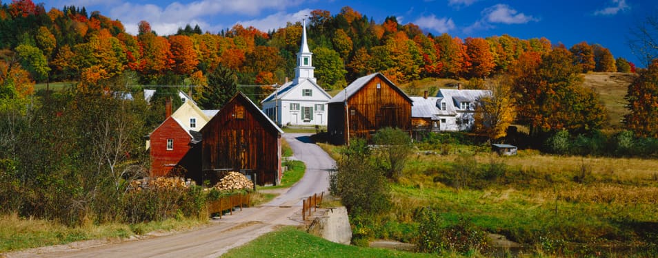
<svg viewBox="0 0 658 258">
<path fill-rule="evenodd" d="M 234 248 L 221 257 L 435 257 L 381 248 L 336 244 L 293 227 L 284 227 Z"/>
</svg>

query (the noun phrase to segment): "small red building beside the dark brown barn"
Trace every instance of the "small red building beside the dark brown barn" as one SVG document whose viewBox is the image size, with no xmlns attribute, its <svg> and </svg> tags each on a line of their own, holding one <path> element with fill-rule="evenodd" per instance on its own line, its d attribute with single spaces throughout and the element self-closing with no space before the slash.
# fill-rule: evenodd
<svg viewBox="0 0 658 258">
<path fill-rule="evenodd" d="M 176 118 L 168 117 L 150 134 L 150 176 L 166 176 L 176 166 L 186 170 L 194 169 L 193 144 L 200 139 L 200 133 L 190 131 Z M 190 160 L 190 161 L 186 161 Z"/>
</svg>

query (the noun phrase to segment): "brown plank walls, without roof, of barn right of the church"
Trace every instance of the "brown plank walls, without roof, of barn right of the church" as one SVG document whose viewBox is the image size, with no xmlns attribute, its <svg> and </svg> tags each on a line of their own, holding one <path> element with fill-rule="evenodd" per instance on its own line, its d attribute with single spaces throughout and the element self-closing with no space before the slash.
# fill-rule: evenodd
<svg viewBox="0 0 658 258">
<path fill-rule="evenodd" d="M 379 89 L 377 89 L 377 83 L 381 85 Z M 352 94 L 347 102 L 348 121 L 344 120 L 346 113 L 344 103 L 330 103 L 330 117 L 335 117 L 330 118 L 329 122 L 340 123 L 328 128 L 328 130 L 336 129 L 337 131 L 335 134 L 330 132 L 330 138 L 334 144 L 346 142 L 345 133 L 343 133 L 345 130 L 349 131 L 350 139 L 355 137 L 370 139 L 372 133 L 384 127 L 397 127 L 404 131 L 411 131 L 411 101 L 381 75 L 373 77 L 355 94 Z M 341 108 L 342 111 L 339 111 Z M 339 121 L 340 116 L 343 116 L 343 121 Z M 346 128 L 347 126 L 349 129 Z M 343 130 L 339 131 L 340 127 L 343 127 Z"/>
</svg>

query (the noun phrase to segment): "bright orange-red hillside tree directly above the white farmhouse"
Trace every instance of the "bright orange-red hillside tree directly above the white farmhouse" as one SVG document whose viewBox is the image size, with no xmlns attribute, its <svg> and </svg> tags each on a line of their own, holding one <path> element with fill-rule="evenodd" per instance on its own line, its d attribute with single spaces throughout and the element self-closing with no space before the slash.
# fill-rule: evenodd
<svg viewBox="0 0 658 258">
<path fill-rule="evenodd" d="M 488 76 L 495 66 L 489 43 L 482 38 L 466 39 L 466 55 L 470 63 L 468 74 L 472 77 Z"/>
</svg>

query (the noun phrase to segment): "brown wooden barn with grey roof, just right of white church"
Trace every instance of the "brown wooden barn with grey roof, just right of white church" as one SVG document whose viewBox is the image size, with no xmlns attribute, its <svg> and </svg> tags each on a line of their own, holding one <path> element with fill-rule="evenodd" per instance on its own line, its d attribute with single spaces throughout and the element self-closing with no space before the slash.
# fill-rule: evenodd
<svg viewBox="0 0 658 258">
<path fill-rule="evenodd" d="M 382 74 L 357 78 L 329 100 L 327 131 L 332 144 L 367 138 L 383 127 L 411 130 L 412 100 Z"/>
</svg>

